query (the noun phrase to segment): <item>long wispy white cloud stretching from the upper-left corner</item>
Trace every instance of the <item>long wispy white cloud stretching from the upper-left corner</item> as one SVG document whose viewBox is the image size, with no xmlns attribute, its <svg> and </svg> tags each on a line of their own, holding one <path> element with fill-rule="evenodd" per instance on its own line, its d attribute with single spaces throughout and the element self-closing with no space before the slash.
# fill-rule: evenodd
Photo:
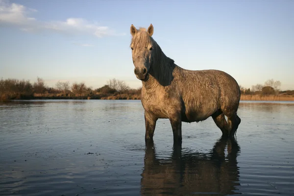
<svg viewBox="0 0 294 196">
<path fill-rule="evenodd" d="M 99 38 L 125 35 L 124 33 L 116 33 L 108 26 L 100 26 L 82 18 L 68 18 L 65 21 L 39 21 L 32 17 L 35 12 L 37 10 L 27 8 L 24 5 L 0 0 L 0 25 L 13 25 L 27 32 L 46 30 L 66 34 L 90 34 Z"/>
</svg>

